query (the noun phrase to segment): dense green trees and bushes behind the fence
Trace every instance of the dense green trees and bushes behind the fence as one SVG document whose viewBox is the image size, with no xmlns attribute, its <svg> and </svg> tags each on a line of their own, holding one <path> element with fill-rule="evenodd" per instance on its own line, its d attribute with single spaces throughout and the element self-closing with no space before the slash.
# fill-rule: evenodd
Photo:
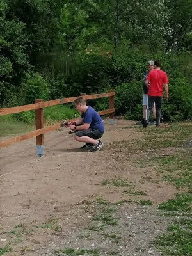
<svg viewBox="0 0 192 256">
<path fill-rule="evenodd" d="M 0 0 L 0 104 L 116 90 L 117 114 L 141 116 L 149 59 L 170 80 L 164 118 L 192 115 L 189 0 Z M 107 99 L 92 102 L 95 108 Z"/>
</svg>

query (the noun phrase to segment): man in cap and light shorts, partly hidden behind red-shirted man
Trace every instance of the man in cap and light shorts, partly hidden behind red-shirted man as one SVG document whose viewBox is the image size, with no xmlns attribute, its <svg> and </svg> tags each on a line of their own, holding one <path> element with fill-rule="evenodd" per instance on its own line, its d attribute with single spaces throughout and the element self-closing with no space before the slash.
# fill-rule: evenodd
<svg viewBox="0 0 192 256">
<path fill-rule="evenodd" d="M 145 80 L 148 76 L 148 73 L 150 72 L 150 70 L 154 69 L 154 61 L 153 60 L 149 60 L 147 63 L 147 71 L 145 72 L 145 77 L 143 80 L 143 119 L 141 120 L 140 123 L 136 123 L 136 125 L 143 125 L 147 119 L 147 93 L 148 93 L 148 87 L 145 84 Z M 154 120 L 152 121 L 152 123 L 150 123 L 151 125 L 156 125 L 156 108 L 154 106 L 154 108 L 152 109 L 153 111 L 153 115 L 154 115 Z"/>
</svg>

